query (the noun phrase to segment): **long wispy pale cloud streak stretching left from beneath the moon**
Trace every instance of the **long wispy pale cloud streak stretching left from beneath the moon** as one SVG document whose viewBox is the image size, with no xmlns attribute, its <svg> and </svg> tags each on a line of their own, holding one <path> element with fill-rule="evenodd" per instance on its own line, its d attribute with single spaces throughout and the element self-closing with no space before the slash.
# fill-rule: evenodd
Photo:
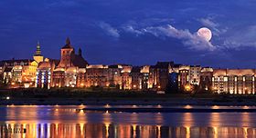
<svg viewBox="0 0 256 138">
<path fill-rule="evenodd" d="M 126 32 L 139 34 L 153 34 L 159 38 L 172 37 L 182 41 L 183 44 L 188 46 L 190 49 L 202 51 L 213 51 L 217 48 L 210 42 L 206 41 L 202 37 L 198 36 L 197 33 L 192 34 L 188 30 L 179 30 L 172 25 L 161 25 L 161 26 L 150 26 L 140 30 L 135 30 L 133 26 L 127 26 Z"/>
</svg>

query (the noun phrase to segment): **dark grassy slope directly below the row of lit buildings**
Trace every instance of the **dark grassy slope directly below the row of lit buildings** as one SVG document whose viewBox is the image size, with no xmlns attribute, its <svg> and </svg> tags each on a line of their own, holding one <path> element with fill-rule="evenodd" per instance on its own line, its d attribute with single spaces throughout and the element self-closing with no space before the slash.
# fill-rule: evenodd
<svg viewBox="0 0 256 138">
<path fill-rule="evenodd" d="M 244 94 L 188 94 L 171 93 L 156 94 L 151 91 L 123 91 L 115 89 L 80 89 L 80 88 L 53 88 L 53 89 L 5 89 L 0 90 L 0 96 L 13 98 L 210 98 L 210 99 L 254 99 L 255 95 Z"/>
</svg>

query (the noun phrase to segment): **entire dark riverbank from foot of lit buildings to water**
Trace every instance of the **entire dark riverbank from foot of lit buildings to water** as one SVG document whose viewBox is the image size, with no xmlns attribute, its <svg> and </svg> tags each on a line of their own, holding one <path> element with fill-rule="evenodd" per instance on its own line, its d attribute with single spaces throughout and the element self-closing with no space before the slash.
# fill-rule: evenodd
<svg viewBox="0 0 256 138">
<path fill-rule="evenodd" d="M 255 95 L 155 94 L 88 89 L 0 90 L 0 105 L 228 105 L 256 106 Z"/>
</svg>

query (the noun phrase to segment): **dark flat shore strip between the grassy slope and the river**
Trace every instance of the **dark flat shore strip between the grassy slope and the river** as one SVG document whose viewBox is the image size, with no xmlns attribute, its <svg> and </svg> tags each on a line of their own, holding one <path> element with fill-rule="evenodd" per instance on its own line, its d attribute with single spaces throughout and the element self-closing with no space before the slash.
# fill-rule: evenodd
<svg viewBox="0 0 256 138">
<path fill-rule="evenodd" d="M 204 98 L 10 98 L 1 99 L 0 105 L 198 105 L 198 106 L 256 106 L 255 100 L 238 102 L 216 101 Z"/>
</svg>

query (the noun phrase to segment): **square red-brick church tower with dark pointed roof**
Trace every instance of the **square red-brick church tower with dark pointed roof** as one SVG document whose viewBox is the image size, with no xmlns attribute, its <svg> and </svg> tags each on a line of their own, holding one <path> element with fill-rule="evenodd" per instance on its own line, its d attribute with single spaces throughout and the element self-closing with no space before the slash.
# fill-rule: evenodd
<svg viewBox="0 0 256 138">
<path fill-rule="evenodd" d="M 69 37 L 66 40 L 66 44 L 61 48 L 61 59 L 59 63 L 59 67 L 68 68 L 70 66 L 73 66 L 71 61 L 71 56 L 74 53 L 74 48 L 70 44 Z"/>
</svg>

